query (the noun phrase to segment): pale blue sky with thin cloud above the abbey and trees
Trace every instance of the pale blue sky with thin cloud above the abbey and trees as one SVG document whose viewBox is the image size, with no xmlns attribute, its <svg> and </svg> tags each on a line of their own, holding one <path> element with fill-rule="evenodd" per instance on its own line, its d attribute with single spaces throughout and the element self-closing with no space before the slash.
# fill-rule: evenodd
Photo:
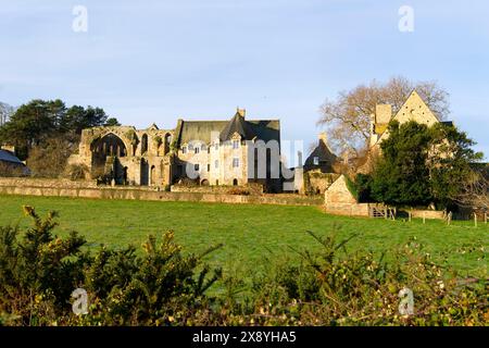
<svg viewBox="0 0 489 348">
<path fill-rule="evenodd" d="M 78 4 L 87 33 L 72 29 Z M 309 145 L 325 98 L 403 75 L 446 88 L 450 119 L 488 154 L 488 17 L 484 0 L 0 0 L 0 101 L 60 98 L 161 128 L 239 105 Z"/>
</svg>

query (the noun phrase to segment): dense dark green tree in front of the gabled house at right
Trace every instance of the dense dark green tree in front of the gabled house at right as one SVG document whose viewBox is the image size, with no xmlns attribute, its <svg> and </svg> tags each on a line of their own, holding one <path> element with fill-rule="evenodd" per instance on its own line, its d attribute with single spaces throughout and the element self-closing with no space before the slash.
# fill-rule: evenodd
<svg viewBox="0 0 489 348">
<path fill-rule="evenodd" d="M 414 121 L 389 124 L 380 144 L 381 157 L 372 177 L 356 178 L 363 199 L 393 206 L 450 207 L 474 174 L 472 163 L 482 154 L 474 141 L 453 125 L 431 127 Z"/>
</svg>

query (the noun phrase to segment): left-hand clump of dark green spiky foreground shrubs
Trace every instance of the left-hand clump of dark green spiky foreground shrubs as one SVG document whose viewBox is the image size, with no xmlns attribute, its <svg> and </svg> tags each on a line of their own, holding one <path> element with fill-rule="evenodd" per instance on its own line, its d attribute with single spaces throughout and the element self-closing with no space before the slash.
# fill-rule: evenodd
<svg viewBox="0 0 489 348">
<path fill-rule="evenodd" d="M 34 226 L 21 239 L 18 228 L 0 228 L 0 324 L 186 324 L 205 313 L 204 293 L 221 270 L 211 271 L 202 258 L 218 246 L 184 256 L 166 233 L 161 244 L 150 236 L 142 257 L 134 247 L 91 256 L 80 251 L 85 239 L 76 233 L 64 239 L 52 234 L 55 213 L 41 220 L 33 208 L 24 209 Z M 79 318 L 70 304 L 78 287 L 91 304 Z"/>
</svg>

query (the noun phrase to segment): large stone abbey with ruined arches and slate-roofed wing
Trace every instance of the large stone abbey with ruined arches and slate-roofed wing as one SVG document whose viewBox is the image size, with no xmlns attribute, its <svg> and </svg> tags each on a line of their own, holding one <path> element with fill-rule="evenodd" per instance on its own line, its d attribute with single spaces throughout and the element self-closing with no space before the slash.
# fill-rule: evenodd
<svg viewBox="0 0 489 348">
<path fill-rule="evenodd" d="M 192 181 L 199 185 L 262 184 L 279 191 L 280 123 L 247 120 L 238 109 L 229 121 L 178 120 L 175 128 L 131 126 L 84 129 L 79 152 L 68 164 L 80 164 L 91 178 L 117 185 L 166 186 Z"/>
</svg>

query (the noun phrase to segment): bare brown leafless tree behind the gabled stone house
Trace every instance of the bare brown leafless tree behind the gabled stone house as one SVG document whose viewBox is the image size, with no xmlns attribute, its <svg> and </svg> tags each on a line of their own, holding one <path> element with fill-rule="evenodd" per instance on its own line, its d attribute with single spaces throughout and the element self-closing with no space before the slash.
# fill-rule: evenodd
<svg viewBox="0 0 489 348">
<path fill-rule="evenodd" d="M 353 150 L 360 156 L 369 138 L 371 115 L 376 104 L 389 103 L 397 113 L 413 89 L 440 120 L 450 113 L 449 94 L 435 82 L 413 83 L 404 77 L 393 77 L 386 84 L 373 80 L 367 86 L 340 91 L 336 100 L 326 100 L 321 105 L 317 124 L 326 127 L 330 146 L 337 153 Z"/>
</svg>

